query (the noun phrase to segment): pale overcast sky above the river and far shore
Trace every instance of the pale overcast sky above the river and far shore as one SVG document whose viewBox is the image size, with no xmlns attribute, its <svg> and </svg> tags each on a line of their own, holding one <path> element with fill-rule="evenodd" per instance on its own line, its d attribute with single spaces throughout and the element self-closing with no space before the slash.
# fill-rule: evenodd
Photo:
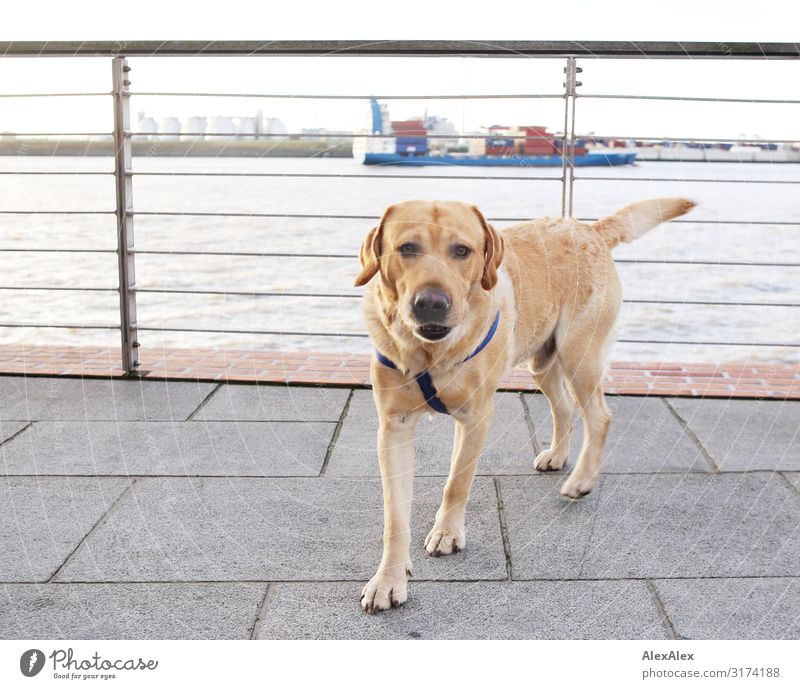
<svg viewBox="0 0 800 689">
<path fill-rule="evenodd" d="M 487 2 L 6 3 L 0 40 L 135 39 L 543 39 L 795 42 L 796 2 L 672 0 Z M 117 8 L 125 8 L 124 11 Z M 133 90 L 255 93 L 557 93 L 562 61 L 538 59 L 171 58 L 131 59 Z M 631 95 L 800 100 L 800 61 L 583 60 L 581 91 Z M 106 91 L 107 59 L 0 60 L 0 92 Z M 0 131 L 108 131 L 107 99 L 0 99 Z M 251 115 L 292 130 L 362 124 L 359 101 L 139 97 L 135 110 L 167 115 Z M 393 118 L 425 102 L 391 102 Z M 428 102 L 458 128 L 494 123 L 558 129 L 560 101 Z M 581 100 L 578 131 L 600 134 L 800 139 L 800 105 Z"/>
</svg>

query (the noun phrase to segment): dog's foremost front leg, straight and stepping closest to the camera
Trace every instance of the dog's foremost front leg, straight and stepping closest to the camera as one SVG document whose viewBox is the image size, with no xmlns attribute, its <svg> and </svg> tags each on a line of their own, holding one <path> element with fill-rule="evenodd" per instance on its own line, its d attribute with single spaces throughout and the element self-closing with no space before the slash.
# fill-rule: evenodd
<svg viewBox="0 0 800 689">
<path fill-rule="evenodd" d="M 375 576 L 361 592 L 361 607 L 370 613 L 399 607 L 408 598 L 417 416 L 381 415 L 378 459 L 383 481 L 383 557 Z"/>
</svg>

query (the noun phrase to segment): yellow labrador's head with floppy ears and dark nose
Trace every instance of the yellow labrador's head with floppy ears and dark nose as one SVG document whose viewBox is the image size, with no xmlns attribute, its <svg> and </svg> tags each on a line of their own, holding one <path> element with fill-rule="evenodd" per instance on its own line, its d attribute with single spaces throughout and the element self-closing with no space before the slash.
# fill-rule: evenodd
<svg viewBox="0 0 800 689">
<path fill-rule="evenodd" d="M 475 290 L 495 286 L 503 239 L 475 206 L 406 201 L 386 209 L 360 258 L 356 286 L 380 273 L 406 325 L 433 342 L 463 321 Z"/>
</svg>

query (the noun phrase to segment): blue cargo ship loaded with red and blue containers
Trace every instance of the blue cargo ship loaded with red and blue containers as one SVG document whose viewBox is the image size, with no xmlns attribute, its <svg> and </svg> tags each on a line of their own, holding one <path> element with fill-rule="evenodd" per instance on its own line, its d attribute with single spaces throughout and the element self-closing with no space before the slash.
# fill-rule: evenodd
<svg viewBox="0 0 800 689">
<path fill-rule="evenodd" d="M 563 142 L 542 126 L 505 127 L 459 137 L 440 117 L 392 121 L 386 105 L 370 101 L 369 136 L 356 138 L 353 157 L 365 165 L 474 165 L 506 167 L 560 167 Z M 459 145 L 466 138 L 467 145 Z M 636 151 L 587 148 L 575 141 L 576 167 L 630 165 Z"/>
</svg>

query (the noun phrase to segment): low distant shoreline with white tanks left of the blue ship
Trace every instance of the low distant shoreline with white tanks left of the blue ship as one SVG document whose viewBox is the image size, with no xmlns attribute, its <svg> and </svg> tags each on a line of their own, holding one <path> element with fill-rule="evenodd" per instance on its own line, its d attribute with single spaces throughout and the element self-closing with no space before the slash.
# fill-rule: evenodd
<svg viewBox="0 0 800 689">
<path fill-rule="evenodd" d="M 218 158 L 352 158 L 350 142 L 275 141 L 261 140 L 208 140 L 187 139 L 150 141 L 134 139 L 131 142 L 136 157 L 218 157 Z M 114 143 L 86 138 L 61 139 L 0 139 L 0 156 L 111 156 Z"/>
</svg>

